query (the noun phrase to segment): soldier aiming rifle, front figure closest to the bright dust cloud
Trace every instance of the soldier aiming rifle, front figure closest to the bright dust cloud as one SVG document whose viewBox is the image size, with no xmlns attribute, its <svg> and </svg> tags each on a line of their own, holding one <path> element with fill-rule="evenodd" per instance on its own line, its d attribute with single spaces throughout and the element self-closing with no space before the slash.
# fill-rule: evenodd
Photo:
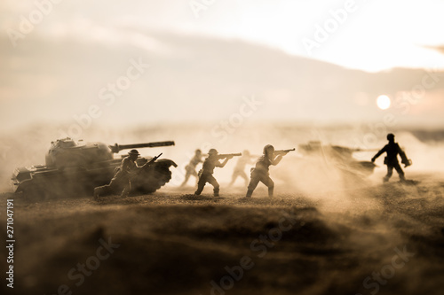
<svg viewBox="0 0 444 295">
<path fill-rule="evenodd" d="M 273 198 L 274 182 L 270 178 L 268 169 L 271 165 L 278 165 L 284 155 L 292 150 L 274 151 L 274 146 L 266 144 L 264 154 L 256 162 L 256 167 L 251 168 L 251 179 L 248 186 L 246 198 L 251 198 L 253 190 L 256 189 L 259 182 L 264 183 L 268 187 L 268 197 Z"/>
</svg>

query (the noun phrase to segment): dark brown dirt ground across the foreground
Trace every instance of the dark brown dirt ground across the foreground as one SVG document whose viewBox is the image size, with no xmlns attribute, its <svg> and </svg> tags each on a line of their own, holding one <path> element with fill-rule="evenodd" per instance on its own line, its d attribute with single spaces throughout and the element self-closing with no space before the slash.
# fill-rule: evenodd
<svg viewBox="0 0 444 295">
<path fill-rule="evenodd" d="M 444 181 L 14 198 L 14 294 L 441 294 Z M 2 209 L 2 224 L 6 224 Z M 0 250 L 2 257 L 6 249 Z M 4 265 L 4 263 L 2 263 Z M 2 277 L 4 270 L 2 270 Z M 4 279 L 2 280 L 3 282 Z M 2 291 L 2 293 L 4 293 Z"/>
</svg>

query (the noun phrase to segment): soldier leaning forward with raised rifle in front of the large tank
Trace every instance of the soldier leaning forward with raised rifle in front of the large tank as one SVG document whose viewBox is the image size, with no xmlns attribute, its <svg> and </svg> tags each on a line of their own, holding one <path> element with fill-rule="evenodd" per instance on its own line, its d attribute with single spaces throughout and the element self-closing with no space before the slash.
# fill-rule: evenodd
<svg viewBox="0 0 444 295">
<path fill-rule="evenodd" d="M 120 167 L 115 169 L 115 175 L 111 182 L 109 182 L 107 185 L 99 186 L 94 189 L 94 200 L 97 201 L 99 200 L 100 196 L 107 196 L 116 192 L 122 192 L 120 195 L 122 198 L 128 197 L 131 191 L 131 176 L 136 175 L 142 169 L 149 167 L 155 162 L 156 159 L 159 159 L 161 155 L 162 153 L 149 160 L 142 167 L 139 167 L 136 163 L 136 160 L 140 156 L 139 151 L 131 150 L 128 152 L 128 157 L 125 157 L 122 160 Z"/>
</svg>

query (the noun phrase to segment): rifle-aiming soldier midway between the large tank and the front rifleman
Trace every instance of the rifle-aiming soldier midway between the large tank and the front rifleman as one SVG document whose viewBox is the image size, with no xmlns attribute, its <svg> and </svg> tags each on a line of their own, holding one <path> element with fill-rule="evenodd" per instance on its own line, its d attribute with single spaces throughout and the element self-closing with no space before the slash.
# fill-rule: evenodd
<svg viewBox="0 0 444 295">
<path fill-rule="evenodd" d="M 197 182 L 197 190 L 194 192 L 194 195 L 199 196 L 203 190 L 203 187 L 207 182 L 209 182 L 213 186 L 214 197 L 218 197 L 219 195 L 219 184 L 216 178 L 213 176 L 215 167 L 225 167 L 226 163 L 229 159 L 232 159 L 234 156 L 241 156 L 241 153 L 238 154 L 218 154 L 218 151 L 215 149 L 210 149 L 208 151 L 208 158 L 203 161 L 202 169 L 199 171 L 199 182 Z M 219 159 L 225 159 L 222 163 L 219 162 Z"/>
</svg>

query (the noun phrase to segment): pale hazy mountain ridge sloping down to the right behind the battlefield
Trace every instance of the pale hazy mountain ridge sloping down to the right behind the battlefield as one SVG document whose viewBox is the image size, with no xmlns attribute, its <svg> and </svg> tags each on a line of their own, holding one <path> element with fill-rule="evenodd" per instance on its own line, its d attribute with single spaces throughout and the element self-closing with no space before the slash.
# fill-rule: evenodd
<svg viewBox="0 0 444 295">
<path fill-rule="evenodd" d="M 444 123 L 439 112 L 444 109 L 443 72 L 432 77 L 405 68 L 367 73 L 238 40 L 131 27 L 119 32 L 135 37 L 111 42 L 29 35 L 16 49 L 1 39 L 0 90 L 8 94 L 2 98 L 4 120 L 14 120 L 15 113 L 27 120 L 72 120 L 91 104 L 102 108 L 98 121 L 118 124 L 223 120 L 236 111 L 242 96 L 254 95 L 266 107 L 251 120 L 371 121 L 384 115 L 374 103 L 378 95 L 395 97 L 425 81 L 433 84 L 427 90 L 434 93 L 425 109 L 417 108 L 414 116 L 401 109 L 392 112 L 400 123 Z M 125 74 L 131 58 L 143 59 L 150 68 L 108 107 L 99 89 Z M 21 105 L 33 105 L 33 112 Z M 147 115 L 154 105 L 161 111 Z"/>
</svg>

